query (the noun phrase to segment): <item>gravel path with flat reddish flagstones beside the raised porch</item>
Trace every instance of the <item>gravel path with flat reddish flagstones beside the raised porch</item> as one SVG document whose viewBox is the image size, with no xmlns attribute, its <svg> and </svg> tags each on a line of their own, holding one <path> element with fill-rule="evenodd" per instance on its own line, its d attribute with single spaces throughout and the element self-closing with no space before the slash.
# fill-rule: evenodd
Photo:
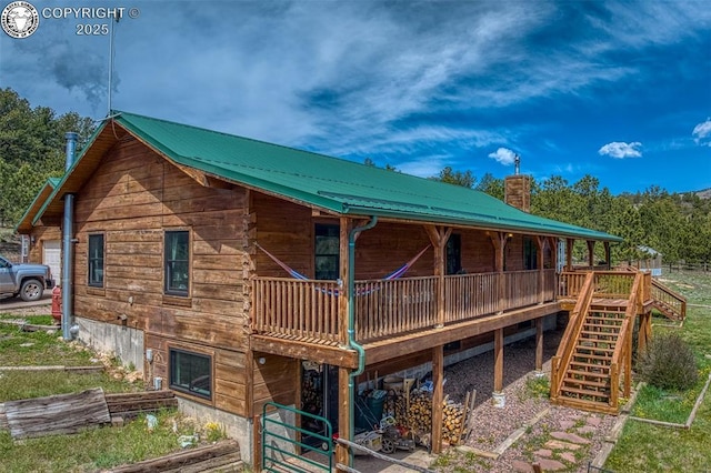
<svg viewBox="0 0 711 473">
<path fill-rule="evenodd" d="M 492 402 L 493 353 L 447 369 L 444 392 L 450 399 L 461 401 L 468 390 L 477 390 L 474 427 L 465 447 L 452 449 L 437 461 L 437 471 L 528 472 L 533 471 L 532 462 L 541 463 L 544 471 L 588 471 L 588 463 L 601 451 L 618 417 L 554 406 L 545 396 L 535 394 L 534 389 L 550 379 L 550 359 L 561 335 L 562 331 L 544 334 L 543 381 L 534 372 L 533 339 L 504 348 L 503 407 Z M 518 430 L 520 437 L 501 452 L 502 443 Z M 500 455 L 488 459 L 474 454 L 473 449 Z"/>
</svg>

